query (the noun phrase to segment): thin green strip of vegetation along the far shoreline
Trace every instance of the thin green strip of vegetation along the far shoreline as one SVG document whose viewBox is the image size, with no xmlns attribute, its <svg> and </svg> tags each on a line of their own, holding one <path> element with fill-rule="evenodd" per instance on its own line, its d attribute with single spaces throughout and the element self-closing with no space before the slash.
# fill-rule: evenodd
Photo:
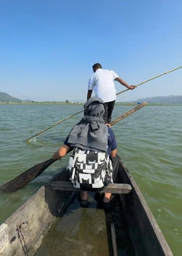
<svg viewBox="0 0 182 256">
<path fill-rule="evenodd" d="M 140 103 L 143 103 L 142 101 Z M 42 104 L 49 104 L 49 105 L 84 105 L 85 103 L 84 102 L 54 102 L 54 101 L 50 101 L 50 102 L 37 102 L 37 101 L 33 101 L 33 102 L 0 102 L 0 104 L 23 104 L 23 105 L 26 105 L 26 104 L 29 104 L 29 105 L 42 105 Z M 117 105 L 139 105 L 139 103 L 136 103 L 136 102 L 116 102 L 115 103 L 115 106 Z M 179 103 L 147 103 L 146 105 L 157 105 L 157 106 L 161 106 L 161 105 L 164 105 L 164 106 L 179 106 L 179 105 L 182 105 L 182 104 L 179 104 Z"/>
</svg>

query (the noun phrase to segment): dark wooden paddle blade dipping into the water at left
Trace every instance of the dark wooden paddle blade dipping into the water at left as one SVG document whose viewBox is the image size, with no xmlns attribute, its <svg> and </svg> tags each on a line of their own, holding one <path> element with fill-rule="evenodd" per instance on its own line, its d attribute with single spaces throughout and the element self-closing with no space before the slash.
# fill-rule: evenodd
<svg viewBox="0 0 182 256">
<path fill-rule="evenodd" d="M 0 191 L 4 192 L 14 192 L 21 187 L 28 184 L 31 180 L 39 176 L 50 164 L 55 162 L 55 159 L 48 159 L 44 162 L 40 162 L 23 173 L 19 174 L 17 177 L 13 178 L 9 182 L 5 183 L 0 187 Z"/>
</svg>

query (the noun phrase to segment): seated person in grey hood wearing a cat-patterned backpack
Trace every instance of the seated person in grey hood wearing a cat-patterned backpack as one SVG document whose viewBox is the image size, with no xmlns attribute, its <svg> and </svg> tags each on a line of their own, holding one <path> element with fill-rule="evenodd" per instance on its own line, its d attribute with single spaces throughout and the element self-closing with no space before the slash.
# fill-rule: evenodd
<svg viewBox="0 0 182 256">
<path fill-rule="evenodd" d="M 91 97 L 84 105 L 84 117 L 72 128 L 63 145 L 53 154 L 61 159 L 69 151 L 68 170 L 70 180 L 80 192 L 79 200 L 87 202 L 87 189 L 102 190 L 109 182 L 115 182 L 119 167 L 117 144 L 113 130 L 104 122 L 106 106 L 99 97 Z M 115 169 L 113 170 L 112 161 Z M 110 202 L 114 196 L 105 193 L 103 201 Z"/>
</svg>

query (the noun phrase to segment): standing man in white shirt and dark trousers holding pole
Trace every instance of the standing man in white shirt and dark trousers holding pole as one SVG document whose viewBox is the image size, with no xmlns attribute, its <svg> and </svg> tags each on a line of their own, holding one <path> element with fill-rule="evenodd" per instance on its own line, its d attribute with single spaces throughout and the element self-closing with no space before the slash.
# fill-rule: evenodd
<svg viewBox="0 0 182 256">
<path fill-rule="evenodd" d="M 103 116 L 105 123 L 111 122 L 111 114 L 116 100 L 116 89 L 114 80 L 120 82 L 128 89 L 135 89 L 135 85 L 129 85 L 121 79 L 113 70 L 102 69 L 101 64 L 96 63 L 92 66 L 94 74 L 90 77 L 88 82 L 87 100 L 92 95 L 94 88 L 96 97 L 102 98 L 106 105 L 106 112 Z"/>
</svg>

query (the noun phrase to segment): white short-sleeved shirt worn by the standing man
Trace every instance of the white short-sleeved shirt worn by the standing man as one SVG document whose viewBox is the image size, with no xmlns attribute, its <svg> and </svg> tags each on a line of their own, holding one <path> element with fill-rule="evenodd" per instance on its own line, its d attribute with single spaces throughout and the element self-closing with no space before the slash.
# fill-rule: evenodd
<svg viewBox="0 0 182 256">
<path fill-rule="evenodd" d="M 113 70 L 98 68 L 89 79 L 88 90 L 94 89 L 95 95 L 104 102 L 113 101 L 116 99 L 114 79 L 117 77 Z"/>
</svg>

